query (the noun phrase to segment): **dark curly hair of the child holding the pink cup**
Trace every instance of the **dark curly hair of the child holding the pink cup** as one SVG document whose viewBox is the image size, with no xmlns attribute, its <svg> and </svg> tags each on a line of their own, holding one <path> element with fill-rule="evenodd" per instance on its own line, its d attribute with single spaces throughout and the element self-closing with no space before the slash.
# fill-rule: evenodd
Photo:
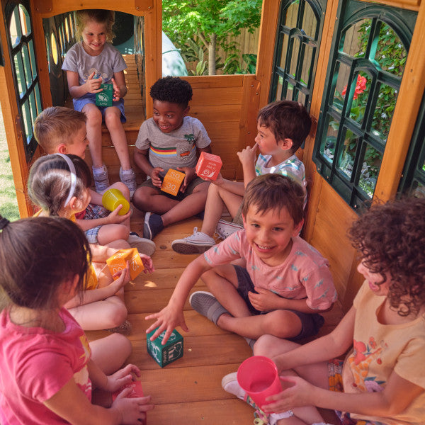
<svg viewBox="0 0 425 425">
<path fill-rule="evenodd" d="M 425 305 L 425 199 L 373 205 L 349 229 L 353 246 L 371 272 L 391 278 L 388 299 L 400 316 Z"/>
</svg>

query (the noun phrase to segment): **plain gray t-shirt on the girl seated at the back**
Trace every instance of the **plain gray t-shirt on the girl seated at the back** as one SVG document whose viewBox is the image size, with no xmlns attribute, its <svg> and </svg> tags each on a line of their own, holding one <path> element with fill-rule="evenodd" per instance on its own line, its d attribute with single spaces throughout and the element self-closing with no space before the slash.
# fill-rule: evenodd
<svg viewBox="0 0 425 425">
<path fill-rule="evenodd" d="M 120 72 L 127 68 L 120 52 L 108 43 L 98 56 L 89 55 L 83 47 L 83 43 L 77 42 L 67 52 L 62 69 L 64 71 L 78 72 L 79 84 L 84 84 L 92 72 L 94 78 L 102 77 L 102 83 L 111 82 L 114 72 Z"/>
</svg>

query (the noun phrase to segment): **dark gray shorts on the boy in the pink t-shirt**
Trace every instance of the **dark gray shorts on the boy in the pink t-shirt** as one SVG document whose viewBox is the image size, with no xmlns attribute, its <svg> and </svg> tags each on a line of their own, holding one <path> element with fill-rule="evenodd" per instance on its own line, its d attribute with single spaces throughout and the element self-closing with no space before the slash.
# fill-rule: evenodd
<svg viewBox="0 0 425 425">
<path fill-rule="evenodd" d="M 254 283 L 252 283 L 251 276 L 249 276 L 249 273 L 248 271 L 246 271 L 246 268 L 243 268 L 241 266 L 233 267 L 237 275 L 237 292 L 248 306 L 249 312 L 251 312 L 251 314 L 253 314 L 254 316 L 259 314 L 266 314 L 266 312 L 260 312 L 259 310 L 256 310 L 252 306 L 251 301 L 249 301 L 248 293 L 256 293 L 256 291 L 254 290 Z M 302 325 L 301 331 L 299 334 L 297 334 L 297 336 L 294 336 L 293 338 L 288 338 L 290 341 L 297 341 L 299 339 L 307 338 L 308 336 L 317 335 L 319 329 L 322 327 L 322 324 L 324 324 L 324 318 L 318 313 L 307 314 L 299 312 L 297 310 L 287 311 L 296 314 L 297 317 L 300 319 Z"/>
</svg>

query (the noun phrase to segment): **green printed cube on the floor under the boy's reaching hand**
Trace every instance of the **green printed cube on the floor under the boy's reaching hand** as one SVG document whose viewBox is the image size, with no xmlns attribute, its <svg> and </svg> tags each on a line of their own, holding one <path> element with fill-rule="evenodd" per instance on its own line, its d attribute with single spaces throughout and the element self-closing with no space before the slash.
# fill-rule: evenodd
<svg viewBox="0 0 425 425">
<path fill-rule="evenodd" d="M 154 334 L 157 329 L 147 334 L 146 345 L 147 352 L 154 358 L 154 360 L 162 367 L 169 363 L 183 357 L 183 336 L 174 329 L 170 335 L 169 340 L 166 341 L 165 345 L 162 345 L 162 340 L 165 336 L 165 331 L 160 334 L 154 341 L 150 340 L 150 337 Z"/>
</svg>

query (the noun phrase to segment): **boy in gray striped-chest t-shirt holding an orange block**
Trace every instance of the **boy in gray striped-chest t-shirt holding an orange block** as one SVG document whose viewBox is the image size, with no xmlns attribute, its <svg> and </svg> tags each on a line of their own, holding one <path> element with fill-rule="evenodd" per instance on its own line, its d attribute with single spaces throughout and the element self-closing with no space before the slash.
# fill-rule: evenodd
<svg viewBox="0 0 425 425">
<path fill-rule="evenodd" d="M 200 152 L 211 152 L 210 137 L 196 118 L 186 116 L 192 98 L 191 84 L 179 77 L 159 79 L 150 89 L 154 116 L 142 123 L 137 135 L 135 163 L 147 175 L 132 198 L 135 207 L 148 211 L 143 235 L 153 239 L 161 230 L 205 208 L 208 181 L 196 176 Z M 186 177 L 177 196 L 161 191 L 169 169 Z"/>
</svg>

